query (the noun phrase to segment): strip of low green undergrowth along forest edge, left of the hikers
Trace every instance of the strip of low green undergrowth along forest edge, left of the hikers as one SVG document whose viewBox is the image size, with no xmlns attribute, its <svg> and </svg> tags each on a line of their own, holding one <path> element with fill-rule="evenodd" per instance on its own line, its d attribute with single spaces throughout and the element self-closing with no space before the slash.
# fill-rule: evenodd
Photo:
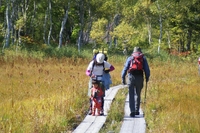
<svg viewBox="0 0 200 133">
<path fill-rule="evenodd" d="M 31 44 L 29 44 L 31 45 Z M 41 49 L 42 48 L 42 49 Z M 86 51 L 86 50 L 84 50 Z M 55 58 L 63 58 L 63 57 L 74 57 L 74 58 L 83 58 L 87 56 L 84 54 L 79 54 L 77 49 L 74 46 L 69 47 L 61 47 L 55 48 L 53 46 L 43 45 L 42 47 L 37 46 L 12 46 L 9 49 L 4 50 L 4 56 L 20 56 L 23 58 L 37 58 L 43 60 L 43 58 L 55 57 Z M 91 50 L 92 51 L 92 50 Z M 88 53 L 88 52 L 87 52 Z M 89 55 L 88 55 L 89 56 Z M 90 55 L 91 57 L 91 55 Z"/>
</svg>

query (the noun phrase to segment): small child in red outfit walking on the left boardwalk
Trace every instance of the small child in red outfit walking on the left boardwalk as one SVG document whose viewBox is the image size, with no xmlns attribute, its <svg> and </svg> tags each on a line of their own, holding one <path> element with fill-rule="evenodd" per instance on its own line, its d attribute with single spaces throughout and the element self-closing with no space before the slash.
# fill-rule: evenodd
<svg viewBox="0 0 200 133">
<path fill-rule="evenodd" d="M 103 91 L 99 87 L 97 80 L 92 80 L 91 101 L 92 101 L 92 115 L 94 116 L 97 110 L 97 115 L 100 115 Z"/>
</svg>

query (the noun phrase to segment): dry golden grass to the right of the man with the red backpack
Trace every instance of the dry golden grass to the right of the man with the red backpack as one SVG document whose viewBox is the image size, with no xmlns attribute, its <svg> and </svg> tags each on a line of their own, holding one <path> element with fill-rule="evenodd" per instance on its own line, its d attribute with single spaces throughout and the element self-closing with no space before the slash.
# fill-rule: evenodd
<svg viewBox="0 0 200 133">
<path fill-rule="evenodd" d="M 148 132 L 200 131 L 200 76 L 196 63 L 151 64 L 146 120 Z"/>
</svg>

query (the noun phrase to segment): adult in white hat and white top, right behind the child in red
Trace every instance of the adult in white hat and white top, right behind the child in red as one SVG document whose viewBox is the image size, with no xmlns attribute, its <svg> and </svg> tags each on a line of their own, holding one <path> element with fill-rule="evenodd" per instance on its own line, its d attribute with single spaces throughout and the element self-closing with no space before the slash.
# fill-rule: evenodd
<svg viewBox="0 0 200 133">
<path fill-rule="evenodd" d="M 100 82 L 100 87 L 102 88 L 104 94 L 102 97 L 102 106 L 101 106 L 101 111 L 100 111 L 100 115 L 104 115 L 103 112 L 103 106 L 104 106 L 104 97 L 105 97 L 105 86 L 103 85 L 103 81 L 102 81 L 102 76 L 104 73 L 105 69 L 109 69 L 109 71 L 113 71 L 115 68 L 113 67 L 113 65 L 111 65 L 110 63 L 104 61 L 105 59 L 105 55 L 102 53 L 98 53 L 96 58 L 94 60 L 92 60 L 86 70 L 86 75 L 90 76 L 90 80 L 89 80 L 89 88 L 88 88 L 88 96 L 90 96 L 91 94 L 91 88 L 92 88 L 92 79 L 93 80 L 97 80 Z M 91 103 L 91 99 L 90 99 L 90 109 L 89 109 L 89 115 L 92 114 L 92 103 Z"/>
</svg>

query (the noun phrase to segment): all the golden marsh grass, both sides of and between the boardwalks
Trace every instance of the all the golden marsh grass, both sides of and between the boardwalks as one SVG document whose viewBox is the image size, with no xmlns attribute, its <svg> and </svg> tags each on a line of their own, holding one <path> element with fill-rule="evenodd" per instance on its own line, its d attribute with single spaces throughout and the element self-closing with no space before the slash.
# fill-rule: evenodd
<svg viewBox="0 0 200 133">
<path fill-rule="evenodd" d="M 125 59 L 109 56 L 108 61 L 115 66 L 111 72 L 113 86 L 121 83 Z M 89 61 L 77 57 L 43 58 L 43 54 L 36 59 L 0 57 L 0 132 L 58 133 L 76 128 L 89 107 L 89 78 L 85 75 Z M 147 132 L 200 131 L 200 76 L 196 62 L 152 57 L 149 66 Z M 124 115 L 122 99 L 116 98 L 112 104 L 103 131 L 119 131 Z"/>
</svg>

